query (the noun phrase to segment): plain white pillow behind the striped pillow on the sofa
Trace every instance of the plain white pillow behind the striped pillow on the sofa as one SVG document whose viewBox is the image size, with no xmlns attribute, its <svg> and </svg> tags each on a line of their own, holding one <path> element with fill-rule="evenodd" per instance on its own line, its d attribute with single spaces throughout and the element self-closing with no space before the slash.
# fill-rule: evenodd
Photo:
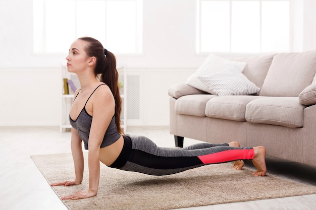
<svg viewBox="0 0 316 210">
<path fill-rule="evenodd" d="M 191 75 L 186 84 L 201 91 L 209 92 L 209 88 L 202 83 L 198 77 L 203 77 L 212 73 L 222 72 L 227 68 L 236 66 L 239 72 L 243 72 L 246 67 L 245 62 L 230 61 L 214 54 L 209 54 L 196 72 Z"/>
</svg>

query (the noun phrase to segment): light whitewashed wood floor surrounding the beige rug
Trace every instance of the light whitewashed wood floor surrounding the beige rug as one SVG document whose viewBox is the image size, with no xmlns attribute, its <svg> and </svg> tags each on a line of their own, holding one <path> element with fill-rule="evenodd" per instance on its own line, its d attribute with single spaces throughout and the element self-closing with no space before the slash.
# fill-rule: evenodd
<svg viewBox="0 0 316 210">
<path fill-rule="evenodd" d="M 168 127 L 128 127 L 128 134 L 145 135 L 158 146 L 174 147 Z M 31 155 L 70 153 L 70 132 L 58 127 L 0 127 L 0 209 L 66 210 L 31 160 Z M 198 143 L 185 139 L 185 145 Z M 316 186 L 316 168 L 267 158 L 268 173 Z M 246 162 L 246 167 L 252 167 Z M 236 180 L 238 182 L 238 180 Z M 264 186 L 262 186 L 264 187 Z M 264 190 L 264 189 L 262 189 Z M 200 206 L 188 209 L 316 209 L 316 194 Z M 88 208 L 87 208 L 88 209 Z"/>
</svg>

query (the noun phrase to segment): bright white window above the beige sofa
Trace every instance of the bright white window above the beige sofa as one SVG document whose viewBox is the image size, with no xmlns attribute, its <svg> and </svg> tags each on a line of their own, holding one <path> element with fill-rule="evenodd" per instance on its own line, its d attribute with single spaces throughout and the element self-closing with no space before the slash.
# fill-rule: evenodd
<svg viewBox="0 0 316 210">
<path fill-rule="evenodd" d="M 290 0 L 197 0 L 197 53 L 289 50 Z"/>
</svg>

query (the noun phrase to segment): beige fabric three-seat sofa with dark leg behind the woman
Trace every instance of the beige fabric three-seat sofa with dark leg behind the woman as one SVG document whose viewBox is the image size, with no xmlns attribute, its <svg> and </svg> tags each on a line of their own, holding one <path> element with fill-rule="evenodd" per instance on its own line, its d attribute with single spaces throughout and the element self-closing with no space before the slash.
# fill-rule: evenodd
<svg viewBox="0 0 316 210">
<path fill-rule="evenodd" d="M 267 155 L 316 166 L 316 51 L 245 57 L 260 91 L 218 96 L 185 82 L 169 89 L 170 133 L 209 143 L 265 146 Z"/>
</svg>

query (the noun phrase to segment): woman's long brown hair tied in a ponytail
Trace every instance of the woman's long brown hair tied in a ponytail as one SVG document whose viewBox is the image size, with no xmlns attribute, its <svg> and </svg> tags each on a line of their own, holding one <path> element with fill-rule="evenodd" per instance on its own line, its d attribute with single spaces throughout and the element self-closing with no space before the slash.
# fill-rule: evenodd
<svg viewBox="0 0 316 210">
<path fill-rule="evenodd" d="M 94 74 L 95 76 L 101 74 L 100 81 L 107 84 L 114 96 L 115 100 L 115 123 L 120 134 L 124 134 L 121 128 L 121 108 L 122 99 L 120 96 L 119 86 L 119 73 L 116 69 L 116 58 L 115 55 L 105 50 L 102 44 L 91 37 L 78 38 L 85 41 L 85 51 L 89 57 L 94 56 L 96 58 Z M 105 52 L 104 52 L 105 51 Z M 106 54 L 106 55 L 105 55 Z"/>
</svg>

